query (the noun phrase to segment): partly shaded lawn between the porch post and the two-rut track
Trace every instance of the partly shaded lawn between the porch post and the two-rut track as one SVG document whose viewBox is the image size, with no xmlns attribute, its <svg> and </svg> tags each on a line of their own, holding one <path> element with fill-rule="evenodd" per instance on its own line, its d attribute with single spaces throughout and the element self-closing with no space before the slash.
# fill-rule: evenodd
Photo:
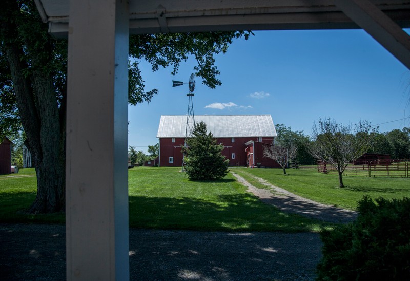
<svg viewBox="0 0 410 281">
<path fill-rule="evenodd" d="M 216 182 L 194 182 L 180 170 L 129 171 L 131 227 L 296 232 L 330 226 L 262 203 L 231 174 Z"/>
</svg>

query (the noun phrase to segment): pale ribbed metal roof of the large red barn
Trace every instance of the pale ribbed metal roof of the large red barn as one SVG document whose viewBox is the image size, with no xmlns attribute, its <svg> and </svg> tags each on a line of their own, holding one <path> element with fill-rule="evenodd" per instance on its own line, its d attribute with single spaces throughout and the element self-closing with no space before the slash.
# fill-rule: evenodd
<svg viewBox="0 0 410 281">
<path fill-rule="evenodd" d="M 277 136 L 270 115 L 195 115 L 201 121 L 215 138 Z M 186 115 L 161 115 L 157 138 L 184 138 L 186 125 Z"/>
</svg>

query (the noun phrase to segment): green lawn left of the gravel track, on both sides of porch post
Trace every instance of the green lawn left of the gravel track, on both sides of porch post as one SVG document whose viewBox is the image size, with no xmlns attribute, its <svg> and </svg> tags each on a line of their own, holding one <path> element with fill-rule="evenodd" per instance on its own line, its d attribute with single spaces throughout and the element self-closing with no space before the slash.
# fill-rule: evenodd
<svg viewBox="0 0 410 281">
<path fill-rule="evenodd" d="M 0 176 L 0 222 L 64 223 L 64 214 L 25 215 L 36 194 L 33 169 Z M 317 232 L 325 223 L 285 214 L 262 203 L 228 174 L 189 181 L 180 168 L 129 170 L 130 227 L 218 231 Z"/>
</svg>

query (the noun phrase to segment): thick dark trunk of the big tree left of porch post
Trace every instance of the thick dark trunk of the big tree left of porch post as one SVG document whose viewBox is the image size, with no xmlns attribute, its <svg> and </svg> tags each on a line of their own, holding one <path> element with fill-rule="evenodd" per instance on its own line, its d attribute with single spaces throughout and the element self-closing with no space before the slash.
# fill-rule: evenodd
<svg viewBox="0 0 410 281">
<path fill-rule="evenodd" d="M 37 195 L 28 212 L 64 211 L 66 103 L 64 93 L 60 103 L 57 101 L 49 67 L 53 44 L 46 24 L 36 20 L 27 22 L 16 1 L 3 4 L 2 47 L 7 54 L 17 108 L 37 175 Z M 23 24 L 33 25 L 33 31 L 20 34 Z"/>
</svg>

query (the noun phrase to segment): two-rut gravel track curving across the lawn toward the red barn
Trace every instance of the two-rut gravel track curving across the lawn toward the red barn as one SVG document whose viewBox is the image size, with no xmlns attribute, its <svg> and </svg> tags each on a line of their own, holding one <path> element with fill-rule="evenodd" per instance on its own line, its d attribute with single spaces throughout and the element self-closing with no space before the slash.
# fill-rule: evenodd
<svg viewBox="0 0 410 281">
<path fill-rule="evenodd" d="M 249 192 L 255 194 L 263 202 L 272 204 L 284 212 L 296 213 L 323 221 L 337 223 L 351 222 L 357 217 L 357 212 L 321 204 L 313 200 L 303 198 L 287 190 L 278 188 L 278 186 L 272 185 L 264 179 L 249 173 L 247 173 L 247 175 L 256 178 L 263 185 L 269 186 L 270 190 L 258 189 L 238 174 L 232 174 L 239 182 L 248 187 Z"/>
</svg>

